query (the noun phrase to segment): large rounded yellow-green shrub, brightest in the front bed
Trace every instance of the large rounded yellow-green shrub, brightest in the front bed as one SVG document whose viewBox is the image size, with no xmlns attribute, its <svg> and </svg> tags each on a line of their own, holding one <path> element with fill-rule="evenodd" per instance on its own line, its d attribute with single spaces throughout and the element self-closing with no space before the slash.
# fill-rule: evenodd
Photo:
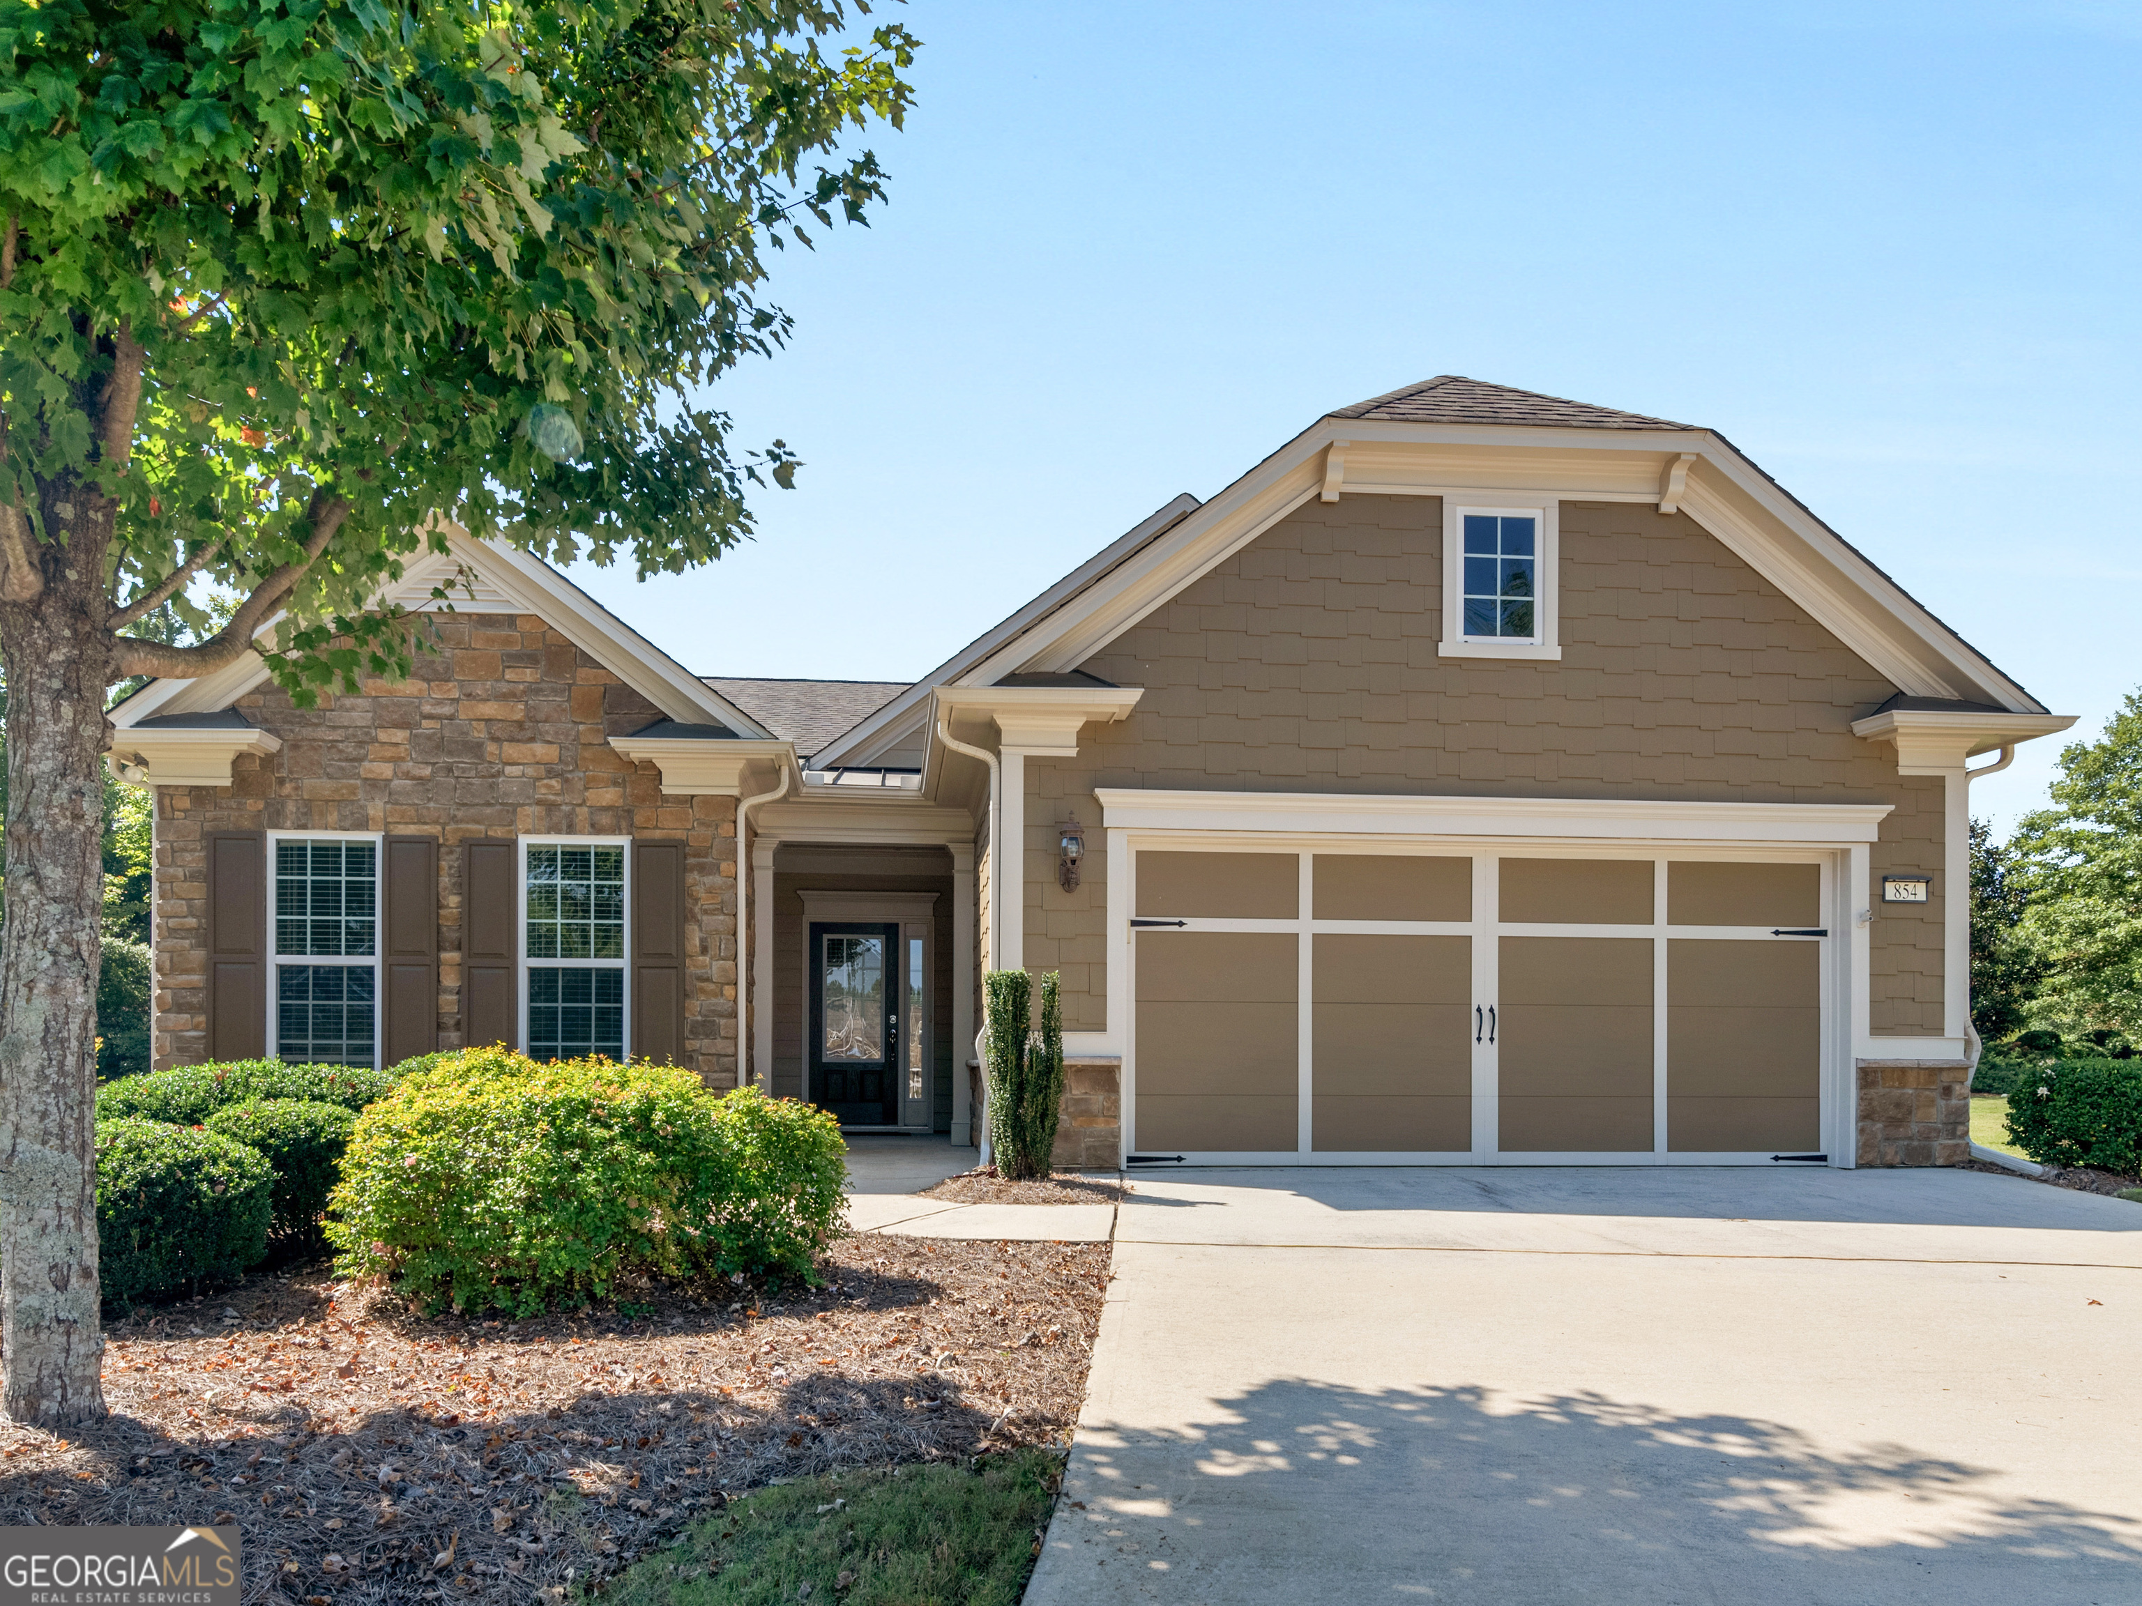
<svg viewBox="0 0 2142 1606">
<path fill-rule="evenodd" d="M 675 1066 L 471 1049 L 358 1118 L 330 1201 L 343 1276 L 431 1310 L 615 1298 L 651 1276 L 810 1274 L 846 1146 L 820 1109 Z"/>
</svg>

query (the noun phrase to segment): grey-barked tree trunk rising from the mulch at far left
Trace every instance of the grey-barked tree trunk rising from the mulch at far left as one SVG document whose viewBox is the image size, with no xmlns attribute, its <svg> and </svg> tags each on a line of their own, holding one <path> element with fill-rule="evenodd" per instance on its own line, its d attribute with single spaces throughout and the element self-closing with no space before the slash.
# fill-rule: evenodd
<svg viewBox="0 0 2142 1606">
<path fill-rule="evenodd" d="M 45 589 L 0 604 L 6 925 L 0 929 L 0 1407 L 105 1415 L 96 1291 L 96 968 L 103 906 L 103 552 L 111 503 L 41 486 Z"/>
</svg>

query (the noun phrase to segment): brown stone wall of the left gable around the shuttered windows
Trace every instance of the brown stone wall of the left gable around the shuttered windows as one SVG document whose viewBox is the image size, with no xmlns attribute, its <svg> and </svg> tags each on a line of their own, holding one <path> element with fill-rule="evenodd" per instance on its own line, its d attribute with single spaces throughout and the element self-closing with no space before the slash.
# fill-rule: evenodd
<svg viewBox="0 0 2142 1606">
<path fill-rule="evenodd" d="M 461 1047 L 461 854 L 469 837 L 660 837 L 685 844 L 685 1064 L 737 1086 L 737 801 L 662 797 L 653 764 L 608 737 L 662 713 L 531 615 L 439 615 L 433 651 L 398 683 L 321 694 L 276 687 L 236 704 L 283 739 L 238 758 L 231 786 L 156 790 L 154 1056 L 206 1058 L 203 833 L 381 831 L 439 852 L 439 1047 Z"/>
</svg>

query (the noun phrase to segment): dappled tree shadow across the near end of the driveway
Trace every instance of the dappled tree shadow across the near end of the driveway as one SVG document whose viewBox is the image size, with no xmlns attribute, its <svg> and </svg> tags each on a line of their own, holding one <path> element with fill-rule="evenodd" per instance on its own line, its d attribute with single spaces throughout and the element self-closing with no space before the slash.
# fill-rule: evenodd
<svg viewBox="0 0 2142 1606">
<path fill-rule="evenodd" d="M 1909 1445 L 1604 1394 L 1281 1379 L 1217 1405 L 1195 1435 L 1080 1430 L 1028 1606 L 2142 1600 L 2136 1512 Z"/>
</svg>

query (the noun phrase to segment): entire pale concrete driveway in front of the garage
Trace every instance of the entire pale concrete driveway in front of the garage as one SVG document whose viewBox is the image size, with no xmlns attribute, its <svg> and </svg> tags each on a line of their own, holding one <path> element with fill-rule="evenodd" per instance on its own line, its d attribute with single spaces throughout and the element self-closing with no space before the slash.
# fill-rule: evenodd
<svg viewBox="0 0 2142 1606">
<path fill-rule="evenodd" d="M 2142 1602 L 2142 1206 L 1140 1176 L 1028 1606 Z"/>
</svg>

